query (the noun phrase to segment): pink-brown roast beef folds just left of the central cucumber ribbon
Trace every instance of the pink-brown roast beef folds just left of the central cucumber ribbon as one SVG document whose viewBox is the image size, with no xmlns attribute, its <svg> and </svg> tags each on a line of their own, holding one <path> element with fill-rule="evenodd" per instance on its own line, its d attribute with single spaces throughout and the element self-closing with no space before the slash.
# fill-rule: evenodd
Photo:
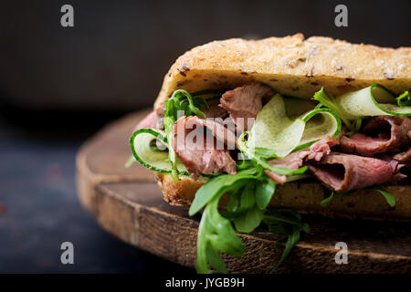
<svg viewBox="0 0 411 292">
<path fill-rule="evenodd" d="M 234 90 L 228 90 L 221 97 L 220 104 L 212 104 L 210 110 L 202 109 L 207 118 L 226 118 L 227 112 L 234 121 L 236 129 L 230 123 L 224 124 L 223 120 L 203 120 L 198 117 L 180 118 L 174 125 L 174 151 L 184 163 L 185 168 L 193 177 L 203 173 L 236 173 L 236 162 L 231 158 L 230 151 L 237 146 L 237 136 L 231 130 L 242 132 L 248 130 L 252 123 L 247 123 L 247 118 L 256 118 L 262 109 L 262 99 L 273 95 L 272 89 L 266 85 L 252 83 Z M 246 120 L 238 120 L 245 118 Z M 180 130 L 179 130 L 180 129 Z M 206 129 L 206 130 L 205 130 Z M 211 133 L 213 139 L 197 141 L 187 139 L 197 137 L 203 133 Z M 205 135 L 209 138 L 210 135 Z M 221 144 L 223 143 L 223 145 Z"/>
</svg>

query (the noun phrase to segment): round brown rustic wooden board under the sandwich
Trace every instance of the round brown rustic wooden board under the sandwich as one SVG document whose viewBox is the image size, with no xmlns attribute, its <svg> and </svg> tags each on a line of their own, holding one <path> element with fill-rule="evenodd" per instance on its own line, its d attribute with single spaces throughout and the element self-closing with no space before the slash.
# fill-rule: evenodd
<svg viewBox="0 0 411 292">
<path fill-rule="evenodd" d="M 128 115 L 100 130 L 79 150 L 79 200 L 109 233 L 153 255 L 195 266 L 199 216 L 163 201 L 153 172 L 134 163 L 128 139 L 147 110 Z M 410 224 L 309 217 L 311 233 L 300 241 L 279 273 L 411 273 Z M 277 235 L 258 230 L 241 235 L 242 258 L 225 256 L 231 273 L 267 273 L 278 261 Z M 337 265 L 337 242 L 348 245 L 348 264 Z"/>
</svg>

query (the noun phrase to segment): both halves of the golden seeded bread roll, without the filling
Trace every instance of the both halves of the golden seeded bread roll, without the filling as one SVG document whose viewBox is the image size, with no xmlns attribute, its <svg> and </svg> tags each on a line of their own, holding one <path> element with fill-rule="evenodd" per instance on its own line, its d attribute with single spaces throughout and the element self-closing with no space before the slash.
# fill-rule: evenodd
<svg viewBox="0 0 411 292">
<path fill-rule="evenodd" d="M 331 37 L 302 34 L 250 41 L 232 38 L 194 47 L 179 57 L 163 79 L 154 103 L 157 110 L 176 89 L 233 89 L 257 81 L 280 94 L 311 99 L 321 86 L 340 95 L 380 83 L 395 93 L 411 88 L 411 47 L 376 47 L 350 44 Z M 188 207 L 206 179 L 181 178 L 156 173 L 164 200 Z M 390 208 L 374 191 L 359 190 L 321 207 L 320 183 L 286 183 L 280 186 L 269 207 L 284 207 L 327 217 L 411 220 L 411 186 L 387 187 L 396 198 Z M 222 204 L 227 203 L 223 197 Z"/>
</svg>

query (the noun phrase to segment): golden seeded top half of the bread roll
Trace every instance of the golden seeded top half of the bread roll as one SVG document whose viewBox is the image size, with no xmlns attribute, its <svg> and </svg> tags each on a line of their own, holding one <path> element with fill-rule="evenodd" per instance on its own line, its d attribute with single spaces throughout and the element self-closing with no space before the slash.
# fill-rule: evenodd
<svg viewBox="0 0 411 292">
<path fill-rule="evenodd" d="M 311 99 L 323 86 L 333 95 L 374 83 L 395 93 L 411 88 L 411 47 L 350 44 L 331 37 L 232 38 L 195 47 L 165 75 L 157 110 L 176 89 L 233 89 L 257 81 L 280 94 Z"/>
</svg>

